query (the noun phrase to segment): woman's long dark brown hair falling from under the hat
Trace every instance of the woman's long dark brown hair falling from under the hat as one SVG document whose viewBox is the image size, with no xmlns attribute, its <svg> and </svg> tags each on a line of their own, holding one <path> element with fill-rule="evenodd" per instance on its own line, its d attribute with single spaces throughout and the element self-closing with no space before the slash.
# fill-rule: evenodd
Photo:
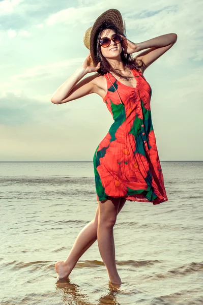
<svg viewBox="0 0 203 305">
<path fill-rule="evenodd" d="M 113 72 L 115 75 L 123 79 L 129 80 L 130 78 L 128 76 L 121 75 L 121 71 L 119 69 L 113 69 L 112 66 L 109 64 L 108 60 L 101 53 L 101 46 L 99 44 L 101 40 L 101 34 L 103 30 L 107 28 L 112 29 L 116 34 L 120 34 L 126 37 L 126 32 L 124 31 L 125 33 L 121 33 L 119 28 L 114 24 L 110 22 L 102 23 L 102 25 L 98 28 L 95 34 L 95 42 L 94 42 L 94 52 L 96 54 L 97 61 L 101 62 L 101 67 L 99 70 L 97 70 L 97 72 L 100 73 L 101 75 L 104 75 L 107 72 Z M 141 67 L 143 64 L 141 59 L 133 58 L 131 54 L 125 54 L 123 48 L 121 51 L 121 59 L 124 64 L 124 67 L 128 67 L 129 69 L 138 70 L 138 68 Z M 141 65 L 140 63 L 138 63 L 138 61 L 141 62 Z"/>
</svg>

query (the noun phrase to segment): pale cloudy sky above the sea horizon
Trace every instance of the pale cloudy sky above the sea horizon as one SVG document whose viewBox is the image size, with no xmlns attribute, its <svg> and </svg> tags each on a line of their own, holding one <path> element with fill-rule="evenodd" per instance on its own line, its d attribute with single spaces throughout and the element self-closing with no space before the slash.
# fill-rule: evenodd
<svg viewBox="0 0 203 305">
<path fill-rule="evenodd" d="M 91 94 L 61 105 L 50 99 L 88 56 L 86 29 L 112 8 L 134 43 L 178 35 L 144 71 L 157 148 L 160 161 L 203 160 L 201 1 L 3 0 L 0 161 L 93 161 L 113 123 L 102 98 Z"/>
</svg>

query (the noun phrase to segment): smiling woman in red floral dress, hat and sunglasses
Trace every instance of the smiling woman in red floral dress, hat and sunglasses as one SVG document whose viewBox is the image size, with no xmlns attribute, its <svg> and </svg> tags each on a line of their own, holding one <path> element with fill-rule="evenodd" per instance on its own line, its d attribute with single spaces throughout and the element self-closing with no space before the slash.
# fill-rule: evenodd
<svg viewBox="0 0 203 305">
<path fill-rule="evenodd" d="M 126 200 L 153 204 L 168 200 L 151 119 L 152 90 L 143 72 L 171 48 L 177 35 L 141 43 L 125 36 L 118 10 L 101 14 L 84 35 L 88 57 L 51 98 L 52 103 L 62 104 L 96 93 L 114 119 L 93 159 L 98 201 L 95 218 L 79 233 L 67 259 L 56 262 L 57 279 L 68 277 L 82 254 L 98 240 L 110 282 L 121 284 L 113 239 L 117 215 Z M 132 57 L 143 49 L 148 50 Z M 96 73 L 80 81 L 91 72 Z"/>
</svg>

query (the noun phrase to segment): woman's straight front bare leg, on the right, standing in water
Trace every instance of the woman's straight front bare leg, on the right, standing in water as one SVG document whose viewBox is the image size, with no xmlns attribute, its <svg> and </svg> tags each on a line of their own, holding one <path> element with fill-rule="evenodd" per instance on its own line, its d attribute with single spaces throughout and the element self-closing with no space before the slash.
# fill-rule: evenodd
<svg viewBox="0 0 203 305">
<path fill-rule="evenodd" d="M 101 258 L 108 271 L 109 280 L 113 284 L 121 284 L 121 278 L 115 264 L 115 248 L 113 226 L 117 220 L 121 198 L 110 198 L 99 201 L 97 241 Z"/>
</svg>

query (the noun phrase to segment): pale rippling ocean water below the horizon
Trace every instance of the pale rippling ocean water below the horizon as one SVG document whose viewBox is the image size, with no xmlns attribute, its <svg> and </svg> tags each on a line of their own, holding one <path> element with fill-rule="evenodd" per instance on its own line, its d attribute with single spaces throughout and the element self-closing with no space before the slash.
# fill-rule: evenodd
<svg viewBox="0 0 203 305">
<path fill-rule="evenodd" d="M 97 208 L 92 162 L 0 163 L 0 303 L 203 304 L 203 162 L 161 162 L 168 201 L 126 201 L 114 226 L 123 284 L 111 287 L 97 241 L 69 279 L 68 256 Z"/>
</svg>

